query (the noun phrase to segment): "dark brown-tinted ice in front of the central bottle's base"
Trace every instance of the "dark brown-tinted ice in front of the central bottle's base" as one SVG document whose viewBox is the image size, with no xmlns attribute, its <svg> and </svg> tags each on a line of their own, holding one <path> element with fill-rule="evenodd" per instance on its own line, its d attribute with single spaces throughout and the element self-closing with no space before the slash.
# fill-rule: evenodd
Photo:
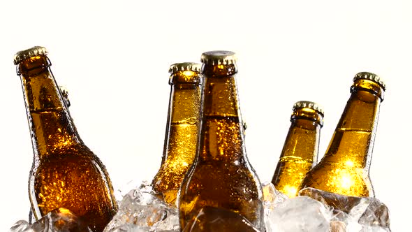
<svg viewBox="0 0 412 232">
<path fill-rule="evenodd" d="M 205 206 L 195 218 L 187 224 L 183 232 L 259 232 L 245 217 L 222 208 Z"/>
</svg>

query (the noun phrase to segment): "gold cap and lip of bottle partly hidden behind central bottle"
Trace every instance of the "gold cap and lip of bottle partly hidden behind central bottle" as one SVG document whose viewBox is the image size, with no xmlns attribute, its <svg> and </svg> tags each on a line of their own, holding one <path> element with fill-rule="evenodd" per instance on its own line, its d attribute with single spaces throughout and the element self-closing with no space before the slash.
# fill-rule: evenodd
<svg viewBox="0 0 412 232">
<path fill-rule="evenodd" d="M 203 79 L 200 75 L 202 65 L 193 62 L 172 64 L 169 68 L 169 85 L 175 84 L 197 84 L 202 85 Z"/>
</svg>

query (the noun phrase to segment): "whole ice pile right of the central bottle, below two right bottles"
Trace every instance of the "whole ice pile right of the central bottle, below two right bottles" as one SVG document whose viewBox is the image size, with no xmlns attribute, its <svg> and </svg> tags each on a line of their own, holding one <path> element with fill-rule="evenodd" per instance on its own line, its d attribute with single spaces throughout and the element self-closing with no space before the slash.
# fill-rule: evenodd
<svg viewBox="0 0 412 232">
<path fill-rule="evenodd" d="M 343 196 L 312 188 L 287 198 L 271 183 L 263 184 L 263 192 L 267 232 L 390 231 L 389 210 L 376 198 Z"/>
</svg>

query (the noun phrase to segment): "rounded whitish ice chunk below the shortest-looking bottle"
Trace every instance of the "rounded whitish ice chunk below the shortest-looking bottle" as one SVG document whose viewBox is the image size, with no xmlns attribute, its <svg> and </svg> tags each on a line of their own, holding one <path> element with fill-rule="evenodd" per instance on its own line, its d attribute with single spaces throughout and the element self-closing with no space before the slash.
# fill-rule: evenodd
<svg viewBox="0 0 412 232">
<path fill-rule="evenodd" d="M 267 232 L 329 232 L 332 212 L 309 196 L 297 196 L 279 203 L 267 217 Z"/>
</svg>

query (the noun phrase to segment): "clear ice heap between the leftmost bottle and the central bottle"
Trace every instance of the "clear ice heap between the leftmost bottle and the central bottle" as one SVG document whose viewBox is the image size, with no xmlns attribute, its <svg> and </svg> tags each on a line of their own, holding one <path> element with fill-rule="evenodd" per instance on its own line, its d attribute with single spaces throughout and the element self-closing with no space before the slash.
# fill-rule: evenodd
<svg viewBox="0 0 412 232">
<path fill-rule="evenodd" d="M 104 231 L 179 231 L 177 209 L 157 195 L 146 182 L 129 191 Z"/>
</svg>

